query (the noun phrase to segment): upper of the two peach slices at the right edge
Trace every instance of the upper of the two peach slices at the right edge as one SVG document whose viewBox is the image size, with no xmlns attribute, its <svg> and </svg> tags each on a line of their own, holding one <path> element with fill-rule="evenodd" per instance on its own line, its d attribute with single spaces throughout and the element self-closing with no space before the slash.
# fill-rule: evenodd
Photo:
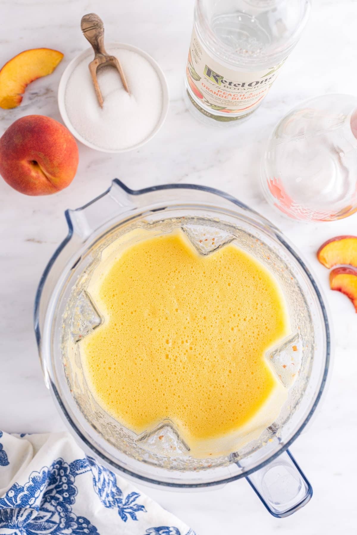
<svg viewBox="0 0 357 535">
<path fill-rule="evenodd" d="M 317 259 L 326 268 L 348 264 L 357 268 L 357 236 L 336 236 L 325 241 L 317 251 Z"/>
</svg>

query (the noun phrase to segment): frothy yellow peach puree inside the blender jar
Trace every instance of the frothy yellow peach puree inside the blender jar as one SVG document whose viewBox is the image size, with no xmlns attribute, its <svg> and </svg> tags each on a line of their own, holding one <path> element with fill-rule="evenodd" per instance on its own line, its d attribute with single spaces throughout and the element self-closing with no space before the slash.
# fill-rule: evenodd
<svg viewBox="0 0 357 535">
<path fill-rule="evenodd" d="M 264 356 L 288 333 L 272 274 L 234 244 L 199 255 L 177 231 L 116 253 L 80 342 L 100 406 L 135 433 L 170 419 L 196 456 L 232 450 L 278 416 L 286 389 Z"/>
</svg>

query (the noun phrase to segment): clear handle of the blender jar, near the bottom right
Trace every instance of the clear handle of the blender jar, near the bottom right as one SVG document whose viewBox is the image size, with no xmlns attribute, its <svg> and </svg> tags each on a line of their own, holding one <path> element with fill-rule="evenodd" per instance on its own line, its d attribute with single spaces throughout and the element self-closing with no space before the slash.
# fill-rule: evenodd
<svg viewBox="0 0 357 535">
<path fill-rule="evenodd" d="M 246 479 L 269 513 L 277 518 L 292 515 L 313 495 L 312 486 L 288 449 Z"/>
</svg>

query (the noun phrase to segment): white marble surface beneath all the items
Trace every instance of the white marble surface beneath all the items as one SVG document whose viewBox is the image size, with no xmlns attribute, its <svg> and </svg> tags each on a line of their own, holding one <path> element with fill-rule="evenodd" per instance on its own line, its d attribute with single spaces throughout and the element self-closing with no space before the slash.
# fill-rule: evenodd
<svg viewBox="0 0 357 535">
<path fill-rule="evenodd" d="M 200 535 L 259 530 L 286 535 L 355 533 L 357 316 L 345 296 L 329 291 L 328 271 L 318 264 L 315 253 L 331 236 L 356 233 L 357 215 L 330 224 L 294 223 L 264 202 L 258 177 L 264 142 L 293 105 L 321 93 L 355 93 L 356 2 L 315 0 L 307 29 L 261 108 L 246 123 L 227 130 L 196 123 L 182 100 L 193 0 L 2 0 L 0 4 L 0 64 L 28 48 L 65 53 L 52 75 L 28 87 L 19 108 L 0 110 L 0 135 L 26 114 L 60 119 L 58 81 L 66 64 L 86 47 L 79 22 L 89 11 L 102 16 L 108 39 L 132 43 L 153 55 L 171 93 L 166 123 L 151 142 L 123 155 L 80 146 L 77 177 L 63 192 L 27 197 L 0 180 L 0 427 L 10 432 L 63 429 L 43 384 L 32 309 L 44 266 L 66 234 L 64 210 L 91 200 L 114 177 L 132 188 L 175 181 L 218 187 L 282 228 L 320 280 L 331 309 L 335 363 L 329 391 L 313 425 L 291 448 L 312 482 L 314 496 L 299 513 L 278 520 L 264 510 L 245 480 L 207 492 L 152 488 L 145 492 Z"/>
</svg>

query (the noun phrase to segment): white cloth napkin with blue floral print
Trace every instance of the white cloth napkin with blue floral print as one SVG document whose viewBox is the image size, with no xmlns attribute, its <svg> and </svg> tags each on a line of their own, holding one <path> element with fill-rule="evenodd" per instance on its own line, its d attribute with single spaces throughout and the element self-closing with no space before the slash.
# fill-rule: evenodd
<svg viewBox="0 0 357 535">
<path fill-rule="evenodd" d="M 0 534 L 195 535 L 68 433 L 1 431 Z"/>
</svg>

